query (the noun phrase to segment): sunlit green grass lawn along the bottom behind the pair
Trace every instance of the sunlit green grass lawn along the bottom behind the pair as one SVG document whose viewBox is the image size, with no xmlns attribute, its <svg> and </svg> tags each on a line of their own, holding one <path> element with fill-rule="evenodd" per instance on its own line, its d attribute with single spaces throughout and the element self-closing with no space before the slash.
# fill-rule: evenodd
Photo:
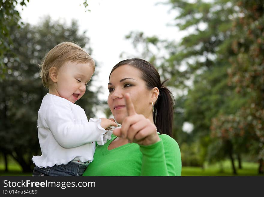
<svg viewBox="0 0 264 197">
<path fill-rule="evenodd" d="M 237 168 L 238 164 L 235 163 Z M 242 169 L 237 168 L 237 176 L 258 176 L 258 163 L 243 162 Z M 222 172 L 220 163 L 214 165 L 204 165 L 204 169 L 200 167 L 182 167 L 182 176 L 233 176 L 231 162 L 229 160 L 222 162 Z M 0 163 L 1 176 L 32 176 L 32 172 L 22 172 L 21 167 L 15 162 L 10 161 L 8 172 L 4 172 L 4 163 Z M 263 175 L 262 175 L 263 176 Z"/>
</svg>

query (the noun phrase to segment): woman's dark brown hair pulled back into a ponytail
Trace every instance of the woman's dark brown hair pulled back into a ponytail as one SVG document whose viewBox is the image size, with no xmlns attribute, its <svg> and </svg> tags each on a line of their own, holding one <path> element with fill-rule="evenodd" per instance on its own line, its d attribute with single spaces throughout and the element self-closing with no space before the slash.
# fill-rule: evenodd
<svg viewBox="0 0 264 197">
<path fill-rule="evenodd" d="M 164 86 L 164 82 L 166 82 L 168 79 L 161 83 L 161 77 L 156 68 L 148 61 L 140 58 L 132 58 L 120 61 L 113 67 L 111 73 L 119 66 L 125 64 L 133 66 L 141 71 L 142 79 L 146 82 L 146 86 L 149 89 L 155 87 L 159 89 L 159 96 L 154 105 L 154 122 L 156 119 L 155 125 L 161 134 L 172 136 L 174 98 L 171 91 Z"/>
</svg>

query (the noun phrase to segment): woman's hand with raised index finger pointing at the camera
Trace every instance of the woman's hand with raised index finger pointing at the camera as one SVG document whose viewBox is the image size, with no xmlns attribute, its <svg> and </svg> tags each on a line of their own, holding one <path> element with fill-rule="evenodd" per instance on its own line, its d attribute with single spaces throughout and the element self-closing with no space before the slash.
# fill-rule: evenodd
<svg viewBox="0 0 264 197">
<path fill-rule="evenodd" d="M 113 130 L 113 134 L 140 145 L 152 145 L 160 141 L 155 124 L 144 115 L 136 113 L 129 94 L 124 96 L 128 116 L 122 122 L 121 128 Z"/>
</svg>

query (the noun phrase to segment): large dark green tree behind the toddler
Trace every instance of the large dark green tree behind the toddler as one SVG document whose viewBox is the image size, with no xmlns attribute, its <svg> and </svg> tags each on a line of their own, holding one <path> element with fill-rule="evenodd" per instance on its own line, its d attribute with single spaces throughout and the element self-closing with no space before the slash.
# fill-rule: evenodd
<svg viewBox="0 0 264 197">
<path fill-rule="evenodd" d="M 63 41 L 79 43 L 91 54 L 89 38 L 85 32 L 79 34 L 76 21 L 67 27 L 48 17 L 40 24 L 10 27 L 13 47 L 10 53 L 5 53 L 7 72 L 0 83 L 3 93 L 0 95 L 0 139 L 5 142 L 1 143 L 0 150 L 10 154 L 25 172 L 33 169 L 32 156 L 41 154 L 36 126 L 38 109 L 48 90 L 39 78 L 38 64 L 50 49 Z M 88 118 L 94 117 L 92 109 L 99 102 L 96 95 L 87 88 L 76 103 L 85 109 Z"/>
</svg>

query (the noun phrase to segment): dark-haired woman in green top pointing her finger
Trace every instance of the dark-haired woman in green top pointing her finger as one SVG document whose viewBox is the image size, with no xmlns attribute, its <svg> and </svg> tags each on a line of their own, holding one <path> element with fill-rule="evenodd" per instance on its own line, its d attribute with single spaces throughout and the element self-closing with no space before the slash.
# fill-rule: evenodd
<svg viewBox="0 0 264 197">
<path fill-rule="evenodd" d="M 97 146 L 83 176 L 179 176 L 181 154 L 170 137 L 173 96 L 148 61 L 127 59 L 109 76 L 108 106 L 121 128 Z"/>
</svg>

